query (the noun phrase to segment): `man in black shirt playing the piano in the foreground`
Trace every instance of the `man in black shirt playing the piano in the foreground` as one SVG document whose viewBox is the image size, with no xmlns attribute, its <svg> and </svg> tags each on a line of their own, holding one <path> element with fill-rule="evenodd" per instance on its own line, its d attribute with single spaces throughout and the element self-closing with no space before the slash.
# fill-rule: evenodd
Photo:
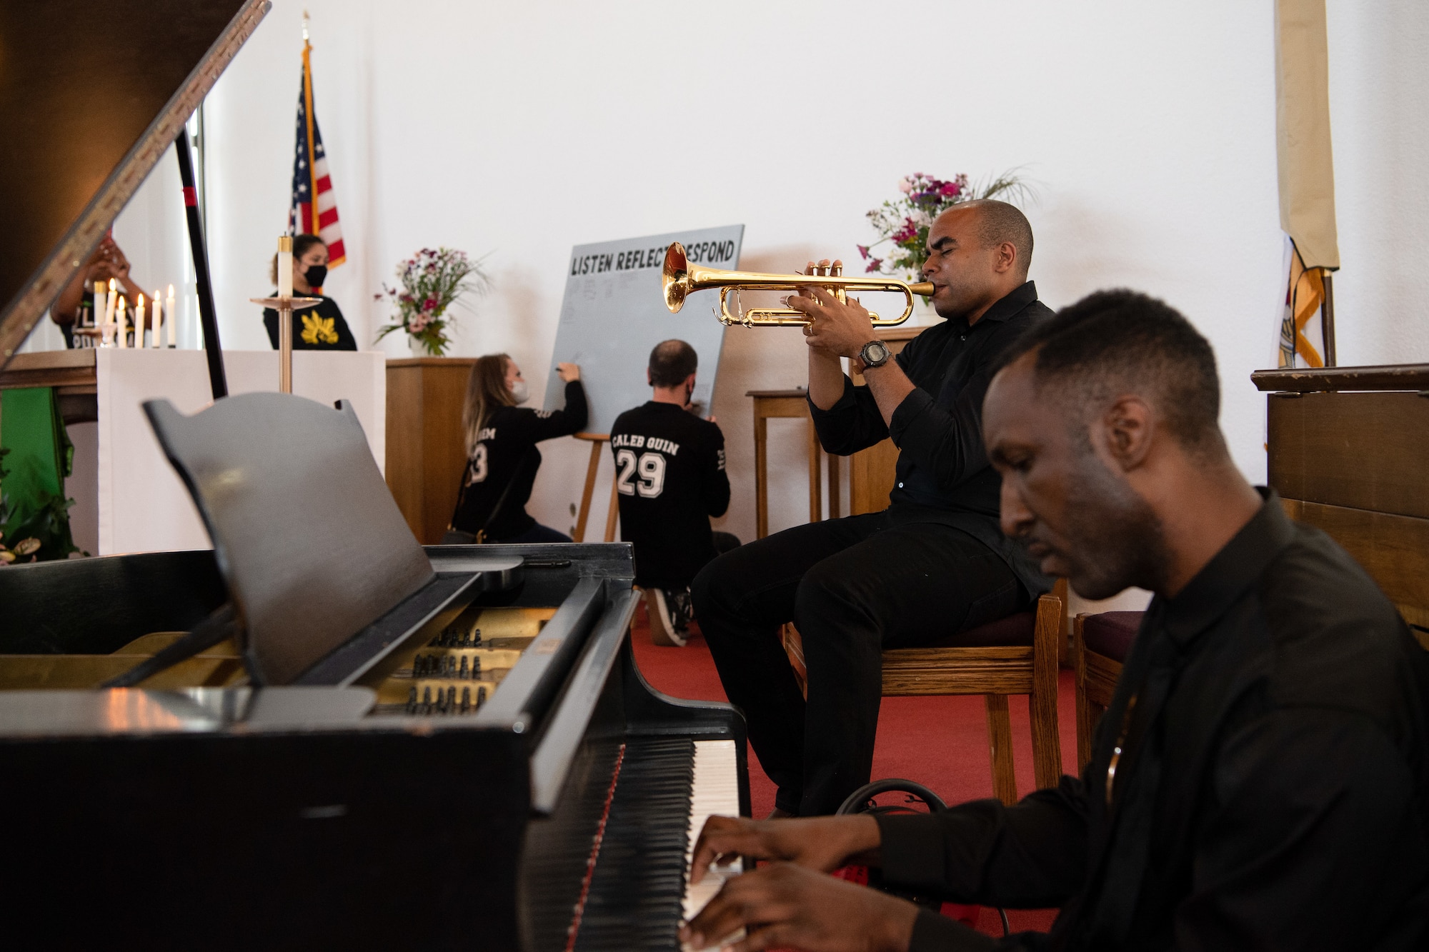
<svg viewBox="0 0 1429 952">
<path fill-rule="evenodd" d="M 767 923 L 772 946 L 900 952 L 1429 948 L 1429 653 L 1339 545 L 1245 480 L 1219 396 L 1210 344 L 1133 292 L 1092 294 L 1012 350 L 983 405 L 1003 529 L 1085 598 L 1155 593 L 1090 763 L 1016 806 L 712 819 L 694 876 L 712 853 L 789 862 L 733 879 L 690 932 Z M 1062 913 L 1050 935 L 993 939 L 816 873 L 850 856 L 919 895 Z"/>
</svg>

